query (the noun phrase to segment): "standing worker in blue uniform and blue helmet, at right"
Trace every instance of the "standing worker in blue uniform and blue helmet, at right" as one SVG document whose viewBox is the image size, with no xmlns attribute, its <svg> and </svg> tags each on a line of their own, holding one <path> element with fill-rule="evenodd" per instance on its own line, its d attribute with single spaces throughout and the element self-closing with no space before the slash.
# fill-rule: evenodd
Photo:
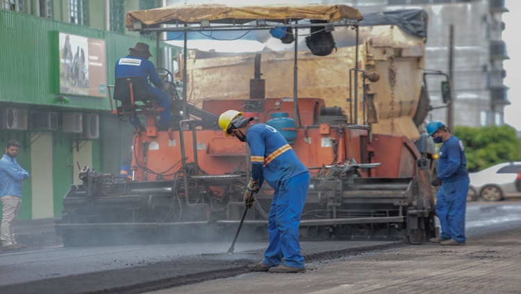
<svg viewBox="0 0 521 294">
<path fill-rule="evenodd" d="M 429 122 L 427 133 L 434 142 L 443 142 L 438 159 L 438 177 L 432 181 L 433 186 L 440 186 L 436 213 L 440 219 L 441 234 L 438 238 L 431 238 L 431 242 L 465 245 L 465 211 L 470 183 L 465 147 L 443 122 Z"/>
</svg>

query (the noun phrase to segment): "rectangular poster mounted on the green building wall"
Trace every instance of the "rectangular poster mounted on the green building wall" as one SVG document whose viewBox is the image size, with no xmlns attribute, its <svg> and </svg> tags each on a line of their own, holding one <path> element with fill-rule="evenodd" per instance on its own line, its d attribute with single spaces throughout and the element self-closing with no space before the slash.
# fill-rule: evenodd
<svg viewBox="0 0 521 294">
<path fill-rule="evenodd" d="M 105 40 L 60 33 L 60 93 L 106 97 Z"/>
</svg>

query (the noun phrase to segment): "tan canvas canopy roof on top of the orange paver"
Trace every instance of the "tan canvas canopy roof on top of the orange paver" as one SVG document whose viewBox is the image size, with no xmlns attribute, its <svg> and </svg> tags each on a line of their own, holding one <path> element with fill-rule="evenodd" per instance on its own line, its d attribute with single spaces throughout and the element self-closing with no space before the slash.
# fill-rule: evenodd
<svg viewBox="0 0 521 294">
<path fill-rule="evenodd" d="M 230 6 L 224 4 L 180 4 L 150 10 L 133 10 L 126 14 L 126 27 L 133 22 L 143 26 L 159 24 L 199 24 L 201 20 L 220 24 L 245 24 L 256 19 L 267 22 L 288 22 L 300 19 L 320 19 L 328 22 L 363 19 L 358 9 L 345 4 L 272 4 L 263 6 Z"/>
</svg>

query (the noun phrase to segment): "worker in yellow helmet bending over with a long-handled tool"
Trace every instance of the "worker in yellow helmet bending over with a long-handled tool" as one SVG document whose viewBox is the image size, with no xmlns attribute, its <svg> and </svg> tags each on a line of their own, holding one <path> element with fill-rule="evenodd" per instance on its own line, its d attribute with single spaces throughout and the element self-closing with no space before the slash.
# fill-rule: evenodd
<svg viewBox="0 0 521 294">
<path fill-rule="evenodd" d="M 226 111 L 219 117 L 225 136 L 247 142 L 251 155 L 251 179 L 244 195 L 251 208 L 255 196 L 266 181 L 275 189 L 268 214 L 269 245 L 265 259 L 249 266 L 257 272 L 305 272 L 300 252 L 299 224 L 310 183 L 309 170 L 279 131 L 267 124 L 252 124 L 238 111 Z M 282 263 L 282 259 L 284 263 Z"/>
</svg>

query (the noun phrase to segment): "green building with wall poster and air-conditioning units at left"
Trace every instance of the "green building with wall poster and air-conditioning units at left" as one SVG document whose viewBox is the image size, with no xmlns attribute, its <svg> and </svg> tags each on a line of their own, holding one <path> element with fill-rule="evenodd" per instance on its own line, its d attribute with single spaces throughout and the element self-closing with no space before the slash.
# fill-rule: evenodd
<svg viewBox="0 0 521 294">
<path fill-rule="evenodd" d="M 0 145 L 22 145 L 22 219 L 60 217 L 78 165 L 119 174 L 133 128 L 110 114 L 108 85 L 117 58 L 149 36 L 126 31 L 126 12 L 154 0 L 2 0 L 0 6 Z M 154 36 L 155 37 L 155 36 Z M 162 44 L 163 46 L 163 44 Z M 176 47 L 162 47 L 172 56 Z M 151 61 L 172 69 L 170 59 Z M 3 150 L 2 147 L 2 150 Z M 72 172 L 73 171 L 73 172 Z"/>
</svg>

